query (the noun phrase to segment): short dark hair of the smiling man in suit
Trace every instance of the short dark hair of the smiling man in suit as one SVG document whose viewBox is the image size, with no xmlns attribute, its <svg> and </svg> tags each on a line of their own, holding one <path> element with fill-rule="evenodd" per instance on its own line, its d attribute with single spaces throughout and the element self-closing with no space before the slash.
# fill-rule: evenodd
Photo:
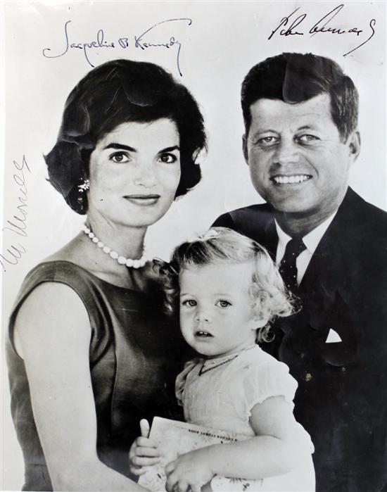
<svg viewBox="0 0 387 492">
<path fill-rule="evenodd" d="M 319 94 L 331 96 L 331 117 L 341 140 L 346 141 L 357 127 L 359 96 L 336 62 L 312 53 L 281 53 L 254 65 L 241 91 L 246 135 L 251 124 L 250 106 L 258 99 L 300 103 Z"/>
</svg>

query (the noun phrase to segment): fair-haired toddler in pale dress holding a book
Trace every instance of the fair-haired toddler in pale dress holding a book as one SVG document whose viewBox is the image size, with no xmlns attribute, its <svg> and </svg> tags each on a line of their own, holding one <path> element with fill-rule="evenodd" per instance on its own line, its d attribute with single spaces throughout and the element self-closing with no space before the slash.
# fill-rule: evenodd
<svg viewBox="0 0 387 492">
<path fill-rule="evenodd" d="M 313 446 L 293 417 L 297 383 L 257 345 L 269 340 L 275 317 L 292 313 L 265 249 L 212 228 L 175 249 L 165 292 L 170 311 L 179 310 L 184 339 L 201 355 L 176 381 L 186 422 L 246 436 L 180 455 L 165 468 L 167 491 L 200 492 L 205 484 L 219 491 L 314 490 Z M 137 439 L 131 457 L 137 474 L 158 459 L 146 438 Z"/>
</svg>

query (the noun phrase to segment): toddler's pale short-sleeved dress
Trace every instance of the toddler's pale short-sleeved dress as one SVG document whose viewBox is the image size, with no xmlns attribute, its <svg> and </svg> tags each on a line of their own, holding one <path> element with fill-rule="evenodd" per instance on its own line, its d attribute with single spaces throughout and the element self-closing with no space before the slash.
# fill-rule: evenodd
<svg viewBox="0 0 387 492">
<path fill-rule="evenodd" d="M 258 345 L 253 345 L 226 357 L 187 362 L 184 371 L 177 377 L 176 396 L 184 407 L 186 422 L 234 432 L 248 439 L 255 436 L 249 422 L 250 410 L 254 405 L 271 396 L 284 396 L 293 410 L 297 386 L 286 364 L 262 351 Z M 297 425 L 300 445 L 307 449 L 307 453 L 304 453 L 296 469 L 262 480 L 214 477 L 212 490 L 314 491 L 314 448 L 307 431 Z"/>
</svg>

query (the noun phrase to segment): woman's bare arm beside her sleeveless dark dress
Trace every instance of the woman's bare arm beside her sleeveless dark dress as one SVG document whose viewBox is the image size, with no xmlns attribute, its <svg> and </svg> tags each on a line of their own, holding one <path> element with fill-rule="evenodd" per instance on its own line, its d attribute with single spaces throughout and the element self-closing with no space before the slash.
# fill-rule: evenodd
<svg viewBox="0 0 387 492">
<path fill-rule="evenodd" d="M 64 284 L 37 286 L 15 322 L 34 420 L 56 491 L 145 490 L 96 453 L 96 410 L 89 370 L 87 310 Z"/>
</svg>

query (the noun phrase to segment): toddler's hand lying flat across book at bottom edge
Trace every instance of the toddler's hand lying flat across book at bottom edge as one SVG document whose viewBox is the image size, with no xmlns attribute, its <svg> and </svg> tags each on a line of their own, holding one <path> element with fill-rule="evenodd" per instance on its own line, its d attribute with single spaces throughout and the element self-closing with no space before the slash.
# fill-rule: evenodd
<svg viewBox="0 0 387 492">
<path fill-rule="evenodd" d="M 201 448 L 179 456 L 175 461 L 165 467 L 167 474 L 168 492 L 201 492 L 203 485 L 207 484 L 214 473 L 208 465 L 208 453 Z"/>
</svg>

